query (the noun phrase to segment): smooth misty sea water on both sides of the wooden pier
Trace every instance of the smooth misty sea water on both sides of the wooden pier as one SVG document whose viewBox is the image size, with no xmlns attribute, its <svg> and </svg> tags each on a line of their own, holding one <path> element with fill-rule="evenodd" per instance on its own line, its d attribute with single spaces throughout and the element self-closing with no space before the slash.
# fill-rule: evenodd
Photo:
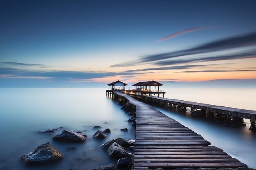
<svg viewBox="0 0 256 170">
<path fill-rule="evenodd" d="M 256 89 L 166 89 L 165 97 L 256 110 Z M 155 106 L 154 106 L 155 107 Z M 106 97 L 105 88 L 0 88 L 0 170 L 89 170 L 117 161 L 108 157 L 99 145 L 122 137 L 135 138 L 130 118 L 116 100 Z M 155 107 L 164 114 L 191 128 L 212 145 L 224 149 L 256 168 L 256 133 L 247 126 L 234 128 L 206 119 L 193 119 L 190 113 L 175 113 Z M 188 110 L 189 111 L 189 110 Z M 107 122 L 107 123 L 106 123 Z M 110 128 L 106 139 L 94 139 L 93 126 Z M 54 134 L 41 134 L 51 128 L 64 127 Z M 128 128 L 128 132 L 120 131 Z M 52 137 L 62 130 L 81 130 L 88 137 L 82 144 L 62 143 Z M 64 159 L 48 166 L 25 166 L 20 157 L 37 146 L 50 142 Z M 76 150 L 66 150 L 75 146 Z M 131 152 L 131 151 L 130 151 Z"/>
</svg>

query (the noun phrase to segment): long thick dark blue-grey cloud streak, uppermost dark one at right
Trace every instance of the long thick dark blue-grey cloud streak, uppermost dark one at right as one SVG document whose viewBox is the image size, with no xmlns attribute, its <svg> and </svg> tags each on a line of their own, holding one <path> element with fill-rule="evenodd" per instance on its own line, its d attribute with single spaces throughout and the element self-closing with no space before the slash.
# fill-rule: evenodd
<svg viewBox="0 0 256 170">
<path fill-rule="evenodd" d="M 239 35 L 236 37 L 229 37 L 229 38 L 225 38 L 222 40 L 209 42 L 209 43 L 197 46 L 197 47 L 184 49 L 184 50 L 180 50 L 180 51 L 142 56 L 137 61 L 115 64 L 115 65 L 112 65 L 112 67 L 134 66 L 134 65 L 152 63 L 152 62 L 154 62 L 153 64 L 155 64 L 155 61 L 158 61 L 158 60 L 173 59 L 175 57 L 182 57 L 182 56 L 194 55 L 194 54 L 204 55 L 204 53 L 219 52 L 219 51 L 223 51 L 223 50 L 229 50 L 229 49 L 235 49 L 235 48 L 238 49 L 241 47 L 248 47 L 248 46 L 255 46 L 255 45 L 256 45 L 256 32 L 253 32 L 253 33 L 249 33 L 246 35 Z M 255 51 L 249 51 L 248 52 L 249 56 L 243 56 L 243 58 L 252 57 L 251 55 L 254 52 Z M 235 56 L 235 55 L 233 55 L 233 56 Z M 202 57 L 202 58 L 208 58 L 207 60 L 210 61 L 211 57 L 212 57 L 212 60 L 214 61 L 215 60 L 214 58 L 216 56 L 213 55 L 210 57 L 207 56 L 207 57 Z M 236 57 L 236 58 L 238 58 L 238 57 Z M 221 58 L 219 58 L 219 59 L 221 59 Z M 232 57 L 230 57 L 229 60 L 231 60 L 231 59 L 232 59 Z M 194 60 L 194 59 L 182 59 L 182 60 Z M 227 60 L 227 59 L 224 59 L 224 60 Z M 156 63 L 157 63 L 157 65 L 161 65 L 159 63 L 166 62 L 165 65 L 168 65 L 168 64 L 176 64 L 175 61 L 178 62 L 178 60 L 173 60 L 173 63 L 166 62 L 166 61 L 161 61 L 161 62 L 158 62 L 158 63 L 156 62 Z"/>
</svg>

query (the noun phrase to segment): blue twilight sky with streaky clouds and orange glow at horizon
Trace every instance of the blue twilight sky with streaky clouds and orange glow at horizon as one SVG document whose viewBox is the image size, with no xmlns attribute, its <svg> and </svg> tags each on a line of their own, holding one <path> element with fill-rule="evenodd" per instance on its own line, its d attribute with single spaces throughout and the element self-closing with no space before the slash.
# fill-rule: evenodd
<svg viewBox="0 0 256 170">
<path fill-rule="evenodd" d="M 1 0 L 0 84 L 256 78 L 255 0 Z"/>
</svg>

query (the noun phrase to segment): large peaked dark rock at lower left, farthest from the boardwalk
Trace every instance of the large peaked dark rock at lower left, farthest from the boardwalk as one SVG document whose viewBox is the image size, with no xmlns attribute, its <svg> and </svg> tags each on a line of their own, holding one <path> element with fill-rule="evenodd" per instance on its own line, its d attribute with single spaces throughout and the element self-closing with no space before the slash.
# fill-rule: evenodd
<svg viewBox="0 0 256 170">
<path fill-rule="evenodd" d="M 27 165 L 54 163 L 63 159 L 61 152 L 51 144 L 46 143 L 38 146 L 32 152 L 23 155 L 21 158 Z"/>
</svg>

